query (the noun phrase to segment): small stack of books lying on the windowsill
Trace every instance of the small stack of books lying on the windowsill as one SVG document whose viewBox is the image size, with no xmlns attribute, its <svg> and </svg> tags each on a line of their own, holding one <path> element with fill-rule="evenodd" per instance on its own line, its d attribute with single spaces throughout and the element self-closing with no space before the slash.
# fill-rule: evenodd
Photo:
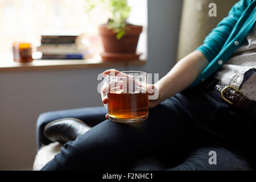
<svg viewBox="0 0 256 182">
<path fill-rule="evenodd" d="M 42 52 L 42 59 L 89 59 L 93 54 L 85 40 L 82 34 L 46 33 L 36 49 Z"/>
</svg>

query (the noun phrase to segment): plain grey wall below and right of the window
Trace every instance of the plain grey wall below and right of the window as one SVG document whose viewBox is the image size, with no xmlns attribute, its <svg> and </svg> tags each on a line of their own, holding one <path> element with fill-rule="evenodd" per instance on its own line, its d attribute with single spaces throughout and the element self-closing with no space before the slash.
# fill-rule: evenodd
<svg viewBox="0 0 256 182">
<path fill-rule="evenodd" d="M 148 0 L 148 62 L 116 69 L 160 73 L 160 77 L 170 70 L 176 63 L 181 3 Z M 0 170 L 32 168 L 40 113 L 102 105 L 97 75 L 104 70 L 0 72 Z"/>
</svg>

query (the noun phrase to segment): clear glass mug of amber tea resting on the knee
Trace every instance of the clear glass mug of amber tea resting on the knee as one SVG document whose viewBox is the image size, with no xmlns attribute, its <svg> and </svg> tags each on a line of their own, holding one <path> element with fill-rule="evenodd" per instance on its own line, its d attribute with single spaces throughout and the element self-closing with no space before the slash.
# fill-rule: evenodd
<svg viewBox="0 0 256 182">
<path fill-rule="evenodd" d="M 117 75 L 115 75 L 117 74 Z M 115 122 L 137 123 L 148 117 L 147 73 L 109 73 L 101 85 L 101 97 L 108 97 L 108 118 Z"/>
</svg>

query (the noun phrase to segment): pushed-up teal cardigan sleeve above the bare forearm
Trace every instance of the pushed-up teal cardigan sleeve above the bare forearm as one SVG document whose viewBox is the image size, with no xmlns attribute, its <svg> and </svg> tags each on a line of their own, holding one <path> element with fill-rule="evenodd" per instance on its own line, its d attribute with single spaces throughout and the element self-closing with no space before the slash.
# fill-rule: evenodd
<svg viewBox="0 0 256 182">
<path fill-rule="evenodd" d="M 217 27 L 204 39 L 203 44 L 196 49 L 207 57 L 209 63 L 218 55 L 218 52 L 220 52 L 221 48 L 224 46 L 233 27 L 247 6 L 249 6 L 249 0 L 237 2 L 229 11 L 228 16 L 217 24 Z"/>
</svg>

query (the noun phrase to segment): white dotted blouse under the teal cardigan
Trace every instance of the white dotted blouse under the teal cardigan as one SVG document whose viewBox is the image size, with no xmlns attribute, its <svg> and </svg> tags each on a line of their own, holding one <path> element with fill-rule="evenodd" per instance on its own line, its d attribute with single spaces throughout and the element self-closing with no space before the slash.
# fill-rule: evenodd
<svg viewBox="0 0 256 182">
<path fill-rule="evenodd" d="M 256 101 L 256 24 L 214 77 Z"/>
</svg>

